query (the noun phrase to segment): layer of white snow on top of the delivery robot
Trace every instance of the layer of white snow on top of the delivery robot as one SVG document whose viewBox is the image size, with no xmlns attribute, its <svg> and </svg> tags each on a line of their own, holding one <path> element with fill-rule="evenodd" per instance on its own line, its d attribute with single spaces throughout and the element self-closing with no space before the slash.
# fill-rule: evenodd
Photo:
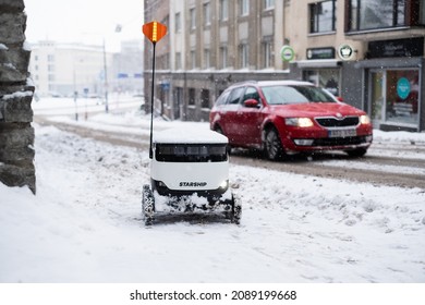
<svg viewBox="0 0 425 305">
<path fill-rule="evenodd" d="M 228 138 L 211 130 L 177 127 L 154 133 L 154 143 L 227 144 Z"/>
</svg>

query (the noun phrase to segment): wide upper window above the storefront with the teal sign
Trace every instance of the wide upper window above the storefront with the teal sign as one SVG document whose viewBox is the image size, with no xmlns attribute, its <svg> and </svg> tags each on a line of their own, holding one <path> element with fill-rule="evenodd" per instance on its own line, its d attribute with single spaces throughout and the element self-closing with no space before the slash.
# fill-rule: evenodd
<svg viewBox="0 0 425 305">
<path fill-rule="evenodd" d="M 350 0 L 349 30 L 405 25 L 406 0 Z"/>
</svg>

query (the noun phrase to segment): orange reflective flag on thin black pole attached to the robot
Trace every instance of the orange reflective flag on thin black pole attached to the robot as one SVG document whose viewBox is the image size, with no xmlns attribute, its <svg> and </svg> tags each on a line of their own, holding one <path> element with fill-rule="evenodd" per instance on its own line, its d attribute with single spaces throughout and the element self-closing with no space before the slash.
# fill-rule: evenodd
<svg viewBox="0 0 425 305">
<path fill-rule="evenodd" d="M 153 68 L 151 68 L 151 93 L 150 93 L 150 142 L 149 142 L 149 158 L 154 157 L 153 152 L 153 133 L 154 133 L 154 90 L 155 90 L 155 47 L 157 42 L 167 34 L 167 26 L 153 21 L 146 23 L 142 27 L 143 34 L 150 40 L 154 46 Z"/>
</svg>

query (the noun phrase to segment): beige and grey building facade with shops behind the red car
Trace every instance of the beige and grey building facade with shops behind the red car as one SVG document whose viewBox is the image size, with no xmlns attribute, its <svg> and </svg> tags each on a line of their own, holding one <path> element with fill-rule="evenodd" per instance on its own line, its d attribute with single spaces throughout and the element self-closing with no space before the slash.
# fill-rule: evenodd
<svg viewBox="0 0 425 305">
<path fill-rule="evenodd" d="M 292 78 L 366 110 L 375 127 L 425 130 L 423 0 L 145 1 L 151 20 L 169 28 L 155 96 L 171 119 L 207 121 L 232 83 Z"/>
</svg>

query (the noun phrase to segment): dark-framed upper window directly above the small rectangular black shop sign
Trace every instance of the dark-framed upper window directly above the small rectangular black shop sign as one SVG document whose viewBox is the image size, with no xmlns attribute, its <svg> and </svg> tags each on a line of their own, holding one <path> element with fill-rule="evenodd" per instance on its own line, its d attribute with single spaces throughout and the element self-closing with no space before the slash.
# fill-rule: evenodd
<svg viewBox="0 0 425 305">
<path fill-rule="evenodd" d="M 309 4 L 309 33 L 333 32 L 335 24 L 335 0 Z"/>
</svg>

